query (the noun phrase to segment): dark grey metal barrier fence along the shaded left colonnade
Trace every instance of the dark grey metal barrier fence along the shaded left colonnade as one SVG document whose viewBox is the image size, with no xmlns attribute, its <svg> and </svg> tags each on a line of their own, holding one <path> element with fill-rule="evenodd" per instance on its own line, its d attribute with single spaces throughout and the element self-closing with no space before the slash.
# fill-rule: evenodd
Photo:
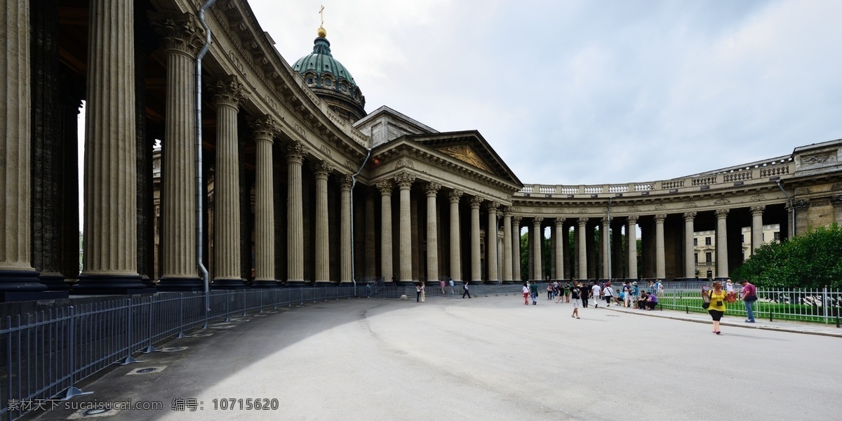
<svg viewBox="0 0 842 421">
<path fill-rule="evenodd" d="M 0 418 L 28 411 L 21 402 L 83 394 L 77 381 L 112 364 L 137 362 L 132 354 L 209 322 L 228 321 L 278 306 L 361 296 L 364 286 L 212 290 L 210 314 L 203 292 L 120 297 L 0 321 Z"/>
</svg>

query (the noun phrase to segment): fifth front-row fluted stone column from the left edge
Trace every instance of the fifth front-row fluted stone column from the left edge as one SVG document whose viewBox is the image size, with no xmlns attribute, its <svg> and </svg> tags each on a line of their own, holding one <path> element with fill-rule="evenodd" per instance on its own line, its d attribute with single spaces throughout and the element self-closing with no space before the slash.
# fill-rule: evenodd
<svg viewBox="0 0 842 421">
<path fill-rule="evenodd" d="M 276 286 L 272 143 L 278 128 L 269 116 L 258 117 L 250 126 L 257 145 L 254 169 L 254 286 Z"/>
</svg>

